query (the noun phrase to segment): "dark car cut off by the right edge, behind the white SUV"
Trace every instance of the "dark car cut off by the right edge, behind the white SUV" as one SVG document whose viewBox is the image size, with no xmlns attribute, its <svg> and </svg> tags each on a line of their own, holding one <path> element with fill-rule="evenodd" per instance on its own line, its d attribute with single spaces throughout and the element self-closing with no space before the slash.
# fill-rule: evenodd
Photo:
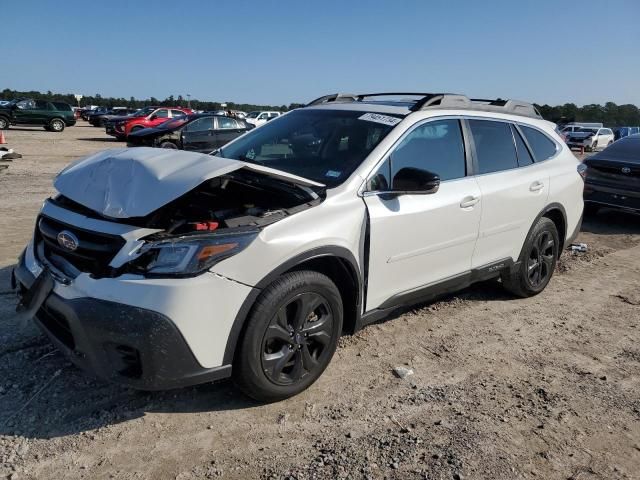
<svg viewBox="0 0 640 480">
<path fill-rule="evenodd" d="M 640 213 L 640 134 L 624 137 L 584 161 L 585 209 Z"/>
</svg>

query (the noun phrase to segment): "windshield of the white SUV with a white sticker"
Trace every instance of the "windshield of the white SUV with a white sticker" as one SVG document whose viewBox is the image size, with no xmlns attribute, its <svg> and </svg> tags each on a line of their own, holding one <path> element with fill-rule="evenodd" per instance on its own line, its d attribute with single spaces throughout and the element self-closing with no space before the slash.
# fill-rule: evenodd
<svg viewBox="0 0 640 480">
<path fill-rule="evenodd" d="M 344 110 L 296 110 L 222 148 L 225 158 L 257 163 L 339 185 L 402 116 Z"/>
</svg>

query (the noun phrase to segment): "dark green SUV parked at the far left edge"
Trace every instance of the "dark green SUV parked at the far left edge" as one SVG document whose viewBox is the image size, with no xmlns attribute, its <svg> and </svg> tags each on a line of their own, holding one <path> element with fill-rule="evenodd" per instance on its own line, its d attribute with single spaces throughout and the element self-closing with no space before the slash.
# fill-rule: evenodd
<svg viewBox="0 0 640 480">
<path fill-rule="evenodd" d="M 42 125 L 50 132 L 61 132 L 75 123 L 68 103 L 21 99 L 0 107 L 0 130 L 10 125 Z"/>
</svg>

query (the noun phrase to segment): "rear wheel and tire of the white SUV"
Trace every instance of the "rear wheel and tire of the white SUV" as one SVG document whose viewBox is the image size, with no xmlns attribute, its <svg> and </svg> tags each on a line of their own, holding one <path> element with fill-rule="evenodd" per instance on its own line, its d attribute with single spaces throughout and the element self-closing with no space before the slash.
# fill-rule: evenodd
<svg viewBox="0 0 640 480">
<path fill-rule="evenodd" d="M 545 289 L 558 260 L 560 238 L 555 223 L 547 217 L 529 231 L 517 269 L 502 275 L 502 284 L 518 297 L 532 297 Z"/>
</svg>

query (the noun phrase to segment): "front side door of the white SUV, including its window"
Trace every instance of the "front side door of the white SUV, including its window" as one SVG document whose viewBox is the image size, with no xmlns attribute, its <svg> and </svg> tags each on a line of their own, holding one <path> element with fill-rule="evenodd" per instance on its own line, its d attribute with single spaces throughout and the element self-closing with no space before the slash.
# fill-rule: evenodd
<svg viewBox="0 0 640 480">
<path fill-rule="evenodd" d="M 467 176 L 466 150 L 457 119 L 427 121 L 409 131 L 371 176 L 364 193 L 370 218 L 367 310 L 469 272 L 481 198 L 475 178 Z M 385 194 L 405 167 L 438 174 L 438 191 Z"/>
</svg>

